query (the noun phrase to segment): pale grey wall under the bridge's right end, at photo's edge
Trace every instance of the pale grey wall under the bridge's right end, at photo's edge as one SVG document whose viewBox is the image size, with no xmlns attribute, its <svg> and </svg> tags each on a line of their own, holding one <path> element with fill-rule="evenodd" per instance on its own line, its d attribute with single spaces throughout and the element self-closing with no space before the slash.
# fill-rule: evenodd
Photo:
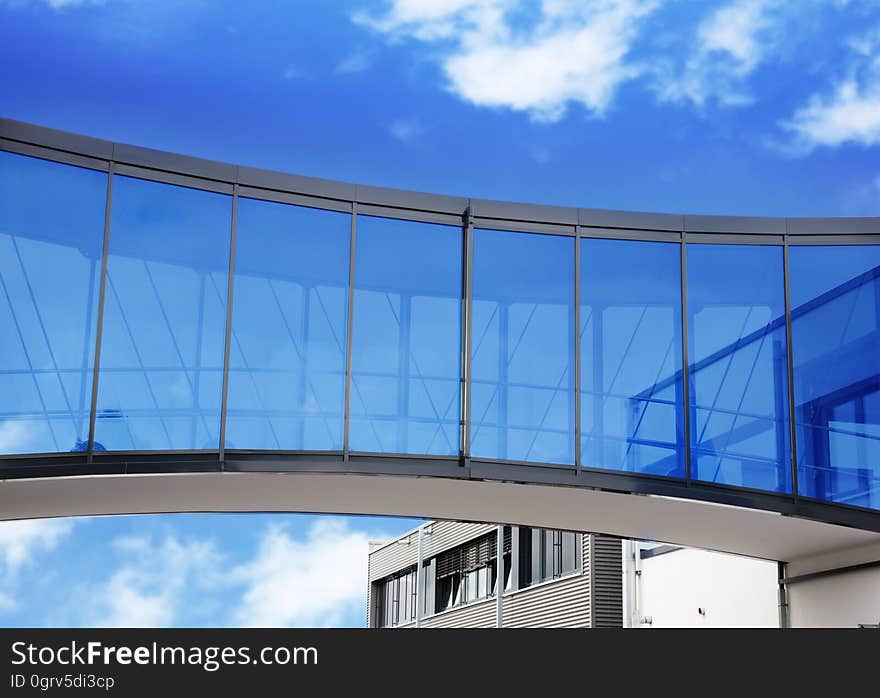
<svg viewBox="0 0 880 698">
<path fill-rule="evenodd" d="M 880 623 L 880 568 L 791 584 L 788 603 L 793 628 L 852 628 L 860 623 Z"/>
</svg>

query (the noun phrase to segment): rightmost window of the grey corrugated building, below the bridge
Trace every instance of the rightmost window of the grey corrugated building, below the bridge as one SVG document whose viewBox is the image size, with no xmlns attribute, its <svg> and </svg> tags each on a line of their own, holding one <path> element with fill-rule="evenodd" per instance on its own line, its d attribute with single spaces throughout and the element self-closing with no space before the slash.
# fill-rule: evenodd
<svg viewBox="0 0 880 698">
<path fill-rule="evenodd" d="M 519 588 L 580 569 L 580 535 L 543 528 L 519 529 Z"/>
</svg>

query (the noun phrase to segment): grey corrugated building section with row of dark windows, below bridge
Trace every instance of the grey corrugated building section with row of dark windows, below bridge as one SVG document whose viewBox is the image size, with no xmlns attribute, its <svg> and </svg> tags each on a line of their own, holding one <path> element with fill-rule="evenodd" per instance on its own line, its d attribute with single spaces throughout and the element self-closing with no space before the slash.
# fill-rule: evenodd
<svg viewBox="0 0 880 698">
<path fill-rule="evenodd" d="M 367 626 L 619 628 L 620 545 L 613 536 L 430 521 L 371 544 Z"/>
</svg>

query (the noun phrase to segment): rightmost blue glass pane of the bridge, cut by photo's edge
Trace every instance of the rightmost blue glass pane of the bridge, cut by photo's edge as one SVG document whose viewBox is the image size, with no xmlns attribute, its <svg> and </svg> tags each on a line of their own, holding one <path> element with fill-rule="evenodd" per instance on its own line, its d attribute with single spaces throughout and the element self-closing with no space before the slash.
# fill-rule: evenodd
<svg viewBox="0 0 880 698">
<path fill-rule="evenodd" d="M 791 247 L 798 490 L 880 509 L 880 247 Z"/>
</svg>

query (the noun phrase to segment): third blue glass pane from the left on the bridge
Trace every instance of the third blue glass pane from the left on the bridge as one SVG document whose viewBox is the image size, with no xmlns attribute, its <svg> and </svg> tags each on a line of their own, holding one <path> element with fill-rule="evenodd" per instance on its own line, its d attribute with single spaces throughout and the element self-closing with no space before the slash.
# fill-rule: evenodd
<svg viewBox="0 0 880 698">
<path fill-rule="evenodd" d="M 341 450 L 350 216 L 239 199 L 226 447 Z"/>
</svg>

